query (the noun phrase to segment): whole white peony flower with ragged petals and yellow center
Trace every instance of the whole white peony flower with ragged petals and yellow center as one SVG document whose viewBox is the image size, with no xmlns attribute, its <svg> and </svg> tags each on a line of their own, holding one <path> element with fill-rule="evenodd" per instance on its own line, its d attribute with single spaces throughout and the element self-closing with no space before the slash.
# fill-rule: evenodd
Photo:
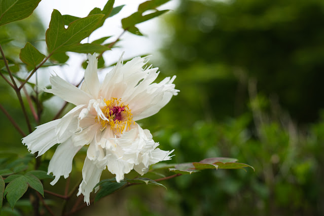
<svg viewBox="0 0 324 216">
<path fill-rule="evenodd" d="M 159 75 L 158 68 L 143 69 L 145 58 L 136 57 L 123 65 L 121 57 L 101 84 L 95 54 L 88 58 L 81 89 L 53 75 L 52 89 L 45 90 L 76 107 L 61 119 L 38 126 L 22 139 L 28 150 L 38 152 L 38 156 L 60 143 L 48 167 L 48 174 L 52 172 L 55 176 L 51 185 L 61 175 L 68 177 L 74 156 L 89 145 L 78 193 L 84 195 L 87 204 L 106 167 L 120 182 L 132 169 L 142 175 L 150 165 L 171 159 L 173 150 L 157 148 L 159 143 L 152 139 L 150 131 L 135 121 L 159 112 L 178 92 L 172 84 L 175 76 L 152 83 Z"/>
</svg>

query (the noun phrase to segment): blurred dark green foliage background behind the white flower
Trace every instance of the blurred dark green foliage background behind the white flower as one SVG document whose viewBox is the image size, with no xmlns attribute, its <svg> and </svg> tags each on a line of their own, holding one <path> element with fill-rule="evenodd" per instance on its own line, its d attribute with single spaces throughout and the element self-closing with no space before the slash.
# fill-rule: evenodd
<svg viewBox="0 0 324 216">
<path fill-rule="evenodd" d="M 3 46 L 7 56 L 17 56 L 24 46 L 19 41 L 44 39 L 42 26 L 35 14 L 2 26 L 1 38 L 22 37 Z M 181 92 L 157 115 L 141 120 L 142 127 L 161 149 L 175 149 L 172 163 L 231 157 L 255 172 L 204 170 L 162 182 L 167 191 L 134 186 L 82 213 L 324 215 L 324 2 L 181 0 L 158 18 L 157 31 L 159 49 L 152 54 L 158 57 L 151 63 L 161 71 L 159 80 L 176 75 Z M 14 92 L 3 79 L 0 88 L 2 104 L 24 126 Z M 42 122 L 54 111 L 46 109 Z M 20 134 L 0 117 L 2 149 L 26 154 Z M 81 176 L 83 160 L 82 154 L 75 160 L 72 183 Z M 63 193 L 64 183 L 45 182 L 45 188 Z M 54 199 L 58 209 L 59 202 Z"/>
</svg>

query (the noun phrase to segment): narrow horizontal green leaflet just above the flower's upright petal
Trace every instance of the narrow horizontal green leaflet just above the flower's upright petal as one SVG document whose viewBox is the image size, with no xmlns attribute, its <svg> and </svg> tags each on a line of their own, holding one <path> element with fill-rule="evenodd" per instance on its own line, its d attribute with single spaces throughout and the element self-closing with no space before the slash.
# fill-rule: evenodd
<svg viewBox="0 0 324 216">
<path fill-rule="evenodd" d="M 101 46 L 99 44 L 73 44 L 62 46 L 60 51 L 63 52 L 76 52 L 76 53 L 95 53 L 95 52 L 103 52 L 106 50 L 110 50 L 110 48 Z"/>
</svg>

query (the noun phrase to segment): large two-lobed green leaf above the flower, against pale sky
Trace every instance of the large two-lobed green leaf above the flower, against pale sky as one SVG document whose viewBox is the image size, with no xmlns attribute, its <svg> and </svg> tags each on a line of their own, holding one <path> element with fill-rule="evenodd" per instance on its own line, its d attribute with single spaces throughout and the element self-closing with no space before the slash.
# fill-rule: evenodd
<svg viewBox="0 0 324 216">
<path fill-rule="evenodd" d="M 63 46 L 79 44 L 89 37 L 104 15 L 95 14 L 71 22 L 64 27 L 63 17 L 59 11 L 54 10 L 51 16 L 49 28 L 46 31 L 46 44 L 50 53 L 68 51 Z"/>
</svg>

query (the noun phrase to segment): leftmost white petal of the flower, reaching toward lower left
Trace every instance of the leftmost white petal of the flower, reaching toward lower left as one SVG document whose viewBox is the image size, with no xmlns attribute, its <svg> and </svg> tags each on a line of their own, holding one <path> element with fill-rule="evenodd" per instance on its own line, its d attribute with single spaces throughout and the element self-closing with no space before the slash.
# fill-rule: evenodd
<svg viewBox="0 0 324 216">
<path fill-rule="evenodd" d="M 60 123 L 57 119 L 36 127 L 37 129 L 22 139 L 22 143 L 27 146 L 30 153 L 38 152 L 38 156 L 43 155 L 56 143 L 64 142 L 71 134 L 67 131 L 61 137 L 55 133 L 55 127 Z"/>
</svg>

